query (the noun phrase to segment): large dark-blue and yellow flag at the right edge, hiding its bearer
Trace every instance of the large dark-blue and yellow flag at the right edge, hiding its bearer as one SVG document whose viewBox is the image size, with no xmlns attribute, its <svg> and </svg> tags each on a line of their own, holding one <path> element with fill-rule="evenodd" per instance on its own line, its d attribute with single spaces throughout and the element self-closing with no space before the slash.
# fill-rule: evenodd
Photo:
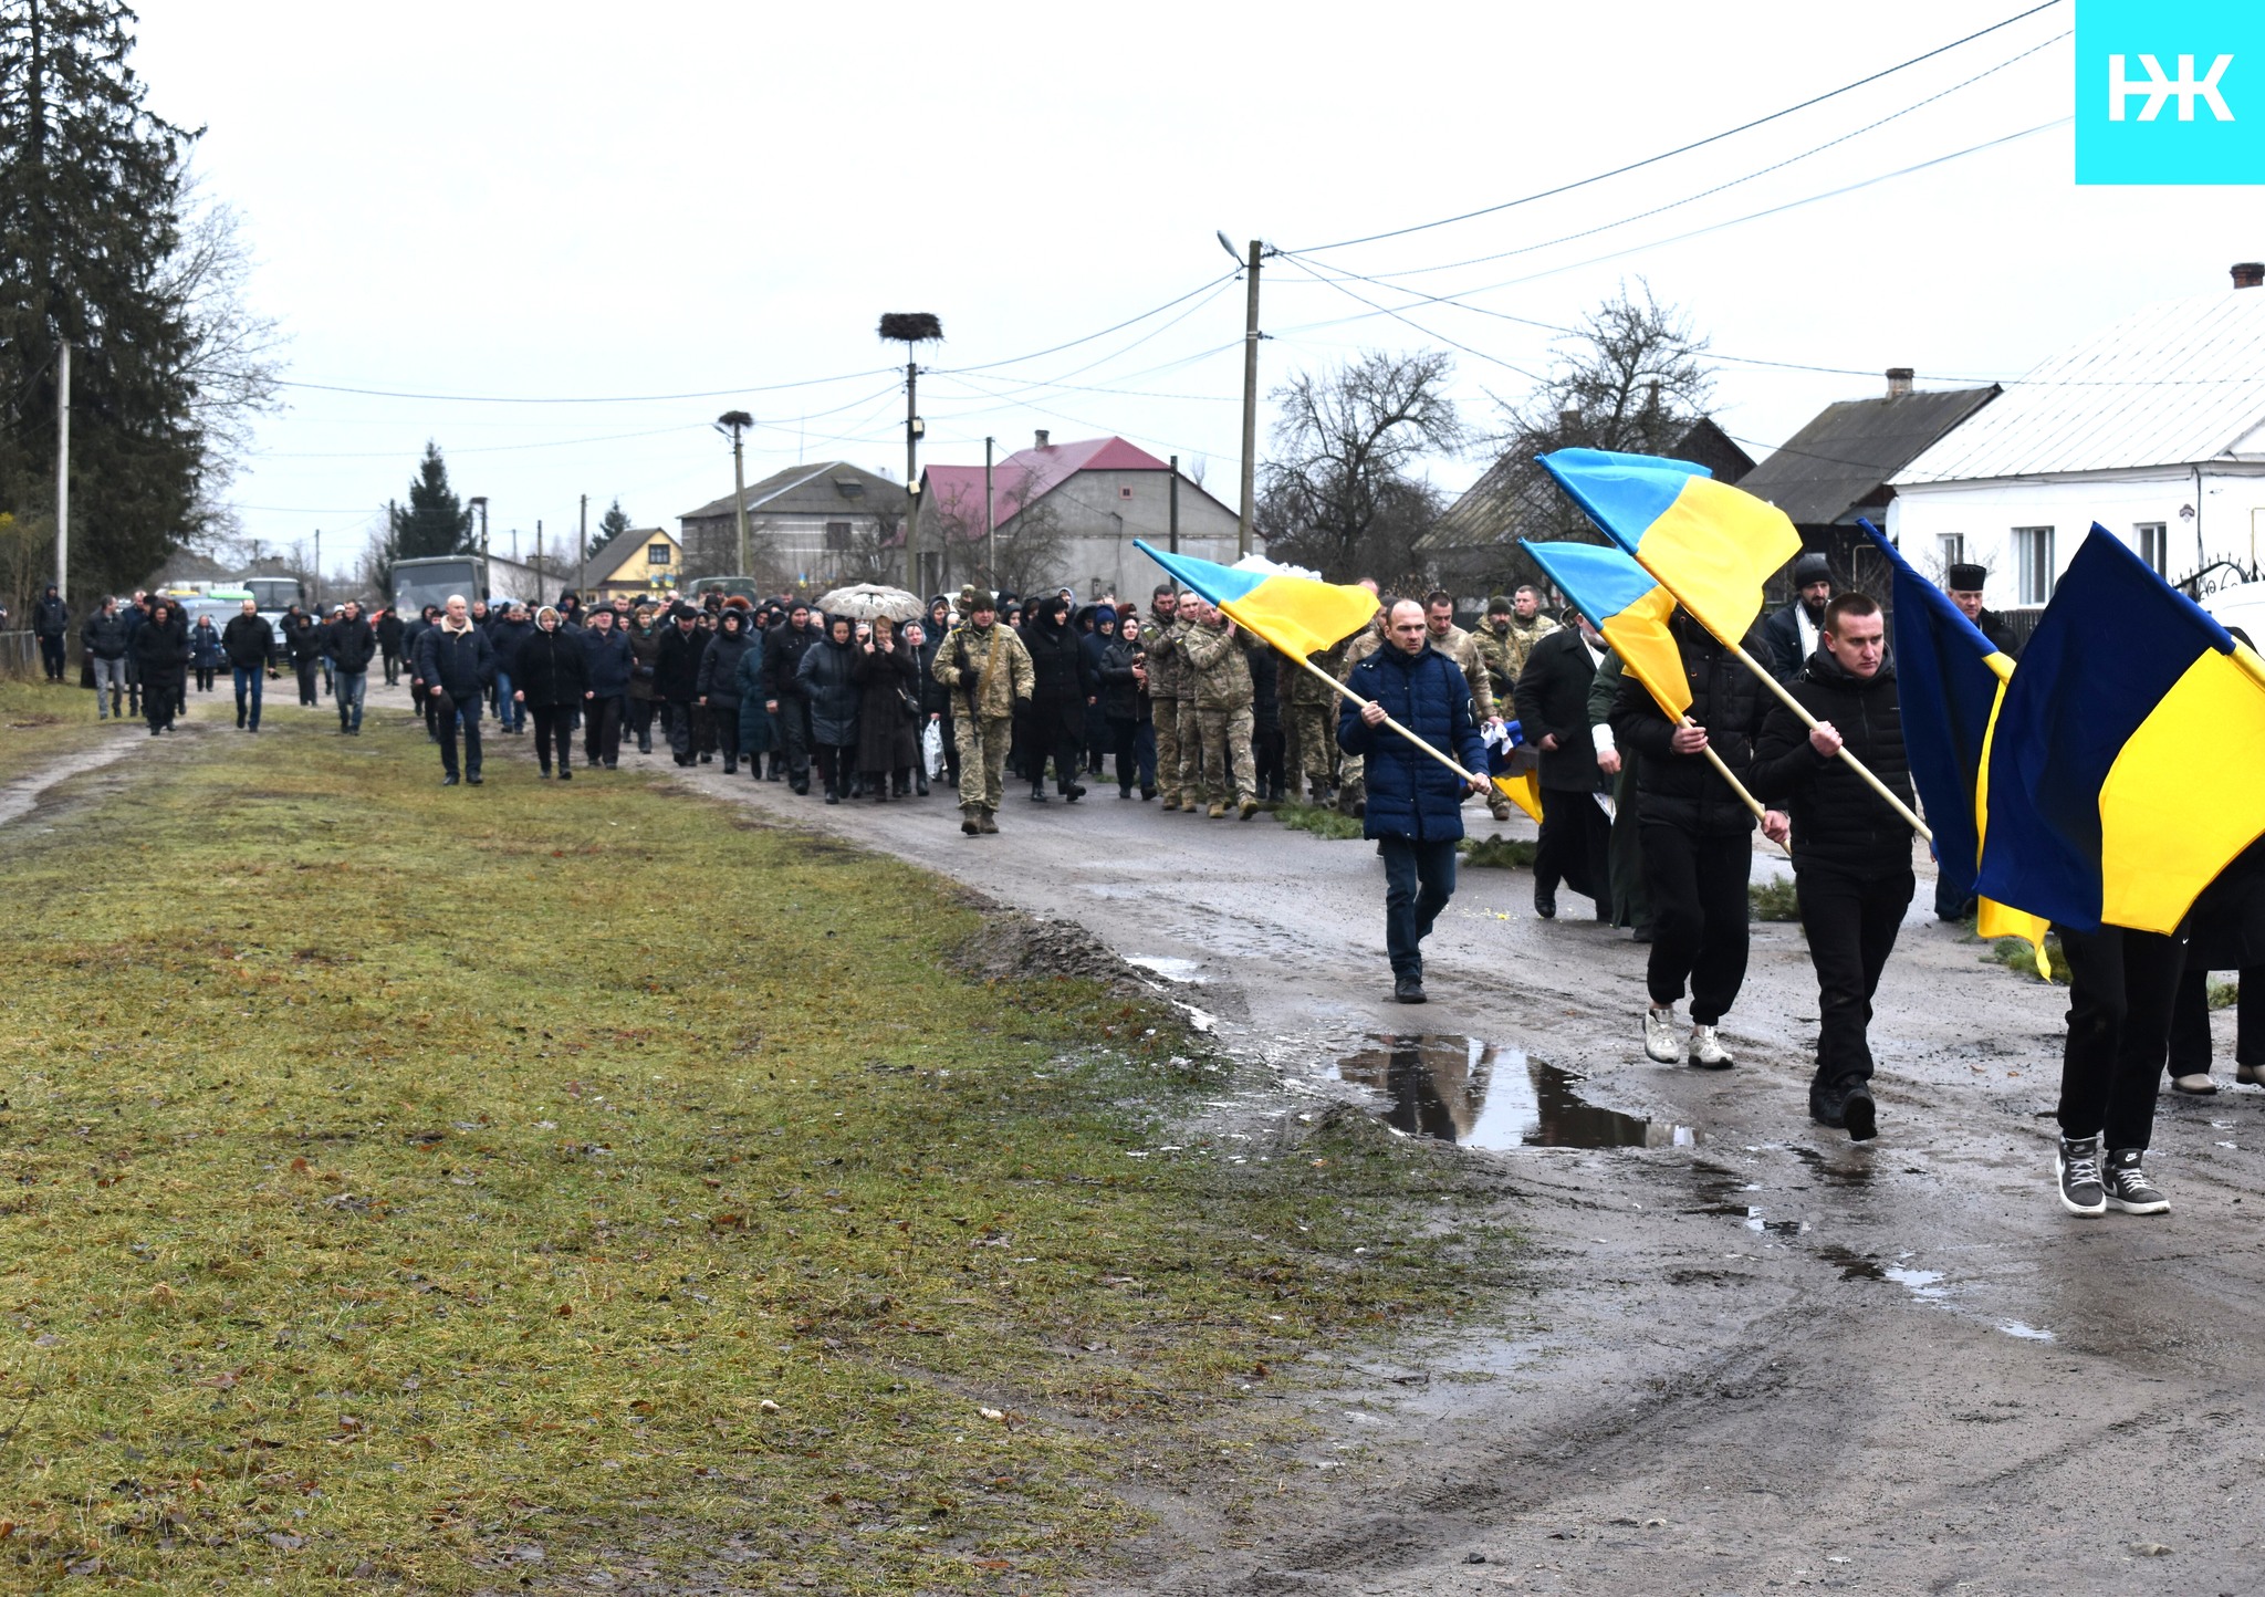
<svg viewBox="0 0 2265 1597">
<path fill-rule="evenodd" d="M 1984 897 L 2075 931 L 2177 931 L 2265 834 L 2265 661 L 2095 523 L 1984 777 Z"/>
</svg>

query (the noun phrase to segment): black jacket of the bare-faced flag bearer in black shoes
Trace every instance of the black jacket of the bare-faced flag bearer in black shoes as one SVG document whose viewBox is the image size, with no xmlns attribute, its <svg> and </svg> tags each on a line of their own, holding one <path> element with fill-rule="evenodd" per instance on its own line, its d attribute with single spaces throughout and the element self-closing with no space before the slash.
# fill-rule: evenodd
<svg viewBox="0 0 2265 1597">
<path fill-rule="evenodd" d="M 1912 766 L 1903 752 L 1903 707 L 1896 668 L 1869 682 L 1848 675 L 1819 648 L 1787 682 L 1801 707 L 1830 720 L 1848 752 L 1912 804 Z M 1794 818 L 1794 865 L 1828 865 L 1857 874 L 1912 868 L 1912 829 L 1864 784 L 1846 759 L 1826 759 L 1803 720 L 1778 704 L 1753 748 L 1753 795 Z"/>
</svg>

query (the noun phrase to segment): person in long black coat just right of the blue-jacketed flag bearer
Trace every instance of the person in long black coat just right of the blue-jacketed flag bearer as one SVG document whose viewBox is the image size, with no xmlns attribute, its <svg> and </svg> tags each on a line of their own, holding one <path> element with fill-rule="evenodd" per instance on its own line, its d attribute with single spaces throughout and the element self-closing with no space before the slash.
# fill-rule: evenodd
<svg viewBox="0 0 2265 1597">
<path fill-rule="evenodd" d="M 1597 920 L 1613 920 L 1613 822 L 1597 802 L 1601 775 L 1588 736 L 1588 691 L 1601 661 L 1604 639 L 1588 616 L 1574 616 L 1533 646 L 1511 700 L 1520 734 L 1542 754 L 1542 838 L 1533 852 L 1533 913 L 1542 920 L 1556 915 L 1558 879 L 1595 899 Z"/>
</svg>

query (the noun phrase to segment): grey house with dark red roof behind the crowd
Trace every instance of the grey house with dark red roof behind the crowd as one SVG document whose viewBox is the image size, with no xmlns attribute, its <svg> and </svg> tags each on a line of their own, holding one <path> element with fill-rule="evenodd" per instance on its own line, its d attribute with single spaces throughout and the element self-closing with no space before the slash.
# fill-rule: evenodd
<svg viewBox="0 0 2265 1597">
<path fill-rule="evenodd" d="M 1008 593 L 1069 587 L 1080 600 L 1137 598 L 1162 571 L 1132 548 L 1171 548 L 1178 501 L 1180 553 L 1234 564 L 1234 510 L 1121 437 L 1055 444 L 1037 433 L 992 467 L 931 464 L 920 473 L 920 546 L 929 591 L 981 582 Z M 942 550 L 938 573 L 935 557 Z M 1264 553 L 1253 541 L 1255 553 Z"/>
</svg>

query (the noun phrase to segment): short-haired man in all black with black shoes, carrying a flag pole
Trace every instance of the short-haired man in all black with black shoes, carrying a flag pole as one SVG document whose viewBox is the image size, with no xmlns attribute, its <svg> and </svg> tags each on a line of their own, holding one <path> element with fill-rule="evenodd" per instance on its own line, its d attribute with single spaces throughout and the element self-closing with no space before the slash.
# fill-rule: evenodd
<svg viewBox="0 0 2265 1597">
<path fill-rule="evenodd" d="M 1794 890 L 1821 1015 L 1810 1119 L 1864 1142 L 1875 1130 L 1864 1028 L 1914 886 L 1912 827 L 1837 759 L 1846 748 L 1896 797 L 1914 802 L 1880 605 L 1864 593 L 1835 598 L 1817 652 L 1787 686 L 1819 725 L 1803 725 L 1783 704 L 1769 711 L 1753 750 L 1753 791 L 1794 822 Z"/>
</svg>

